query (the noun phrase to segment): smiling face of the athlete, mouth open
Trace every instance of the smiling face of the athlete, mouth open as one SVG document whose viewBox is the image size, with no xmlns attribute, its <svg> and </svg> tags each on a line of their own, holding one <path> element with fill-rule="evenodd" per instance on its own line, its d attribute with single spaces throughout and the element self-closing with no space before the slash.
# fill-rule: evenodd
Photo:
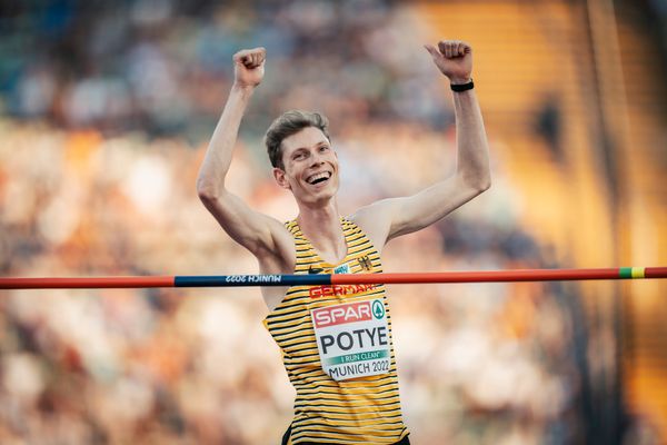
<svg viewBox="0 0 667 445">
<path fill-rule="evenodd" d="M 298 202 L 327 204 L 338 191 L 338 157 L 325 134 L 316 127 L 282 140 L 282 165 L 273 168 L 280 187 L 291 190 Z"/>
</svg>

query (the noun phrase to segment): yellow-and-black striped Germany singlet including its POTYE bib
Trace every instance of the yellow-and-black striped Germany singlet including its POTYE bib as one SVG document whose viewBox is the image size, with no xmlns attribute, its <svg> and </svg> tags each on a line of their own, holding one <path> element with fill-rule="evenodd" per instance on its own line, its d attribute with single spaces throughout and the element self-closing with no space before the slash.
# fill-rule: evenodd
<svg viewBox="0 0 667 445">
<path fill-rule="evenodd" d="M 323 261 L 296 220 L 295 274 L 376 274 L 380 256 L 341 218 L 347 255 Z M 408 435 L 384 285 L 292 286 L 266 317 L 297 392 L 290 444 L 395 444 Z"/>
</svg>

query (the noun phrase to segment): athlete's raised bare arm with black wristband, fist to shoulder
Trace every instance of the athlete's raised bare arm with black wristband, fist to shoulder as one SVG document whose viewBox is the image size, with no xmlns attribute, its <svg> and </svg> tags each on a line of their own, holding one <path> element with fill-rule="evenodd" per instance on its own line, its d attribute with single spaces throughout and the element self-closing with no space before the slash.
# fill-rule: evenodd
<svg viewBox="0 0 667 445">
<path fill-rule="evenodd" d="M 451 83 L 467 83 L 472 70 L 471 48 L 460 41 L 426 46 Z M 457 162 L 449 178 L 402 198 L 377 201 L 359 209 L 354 219 L 377 248 L 398 236 L 420 230 L 490 187 L 488 142 L 475 90 L 454 92 Z"/>
</svg>

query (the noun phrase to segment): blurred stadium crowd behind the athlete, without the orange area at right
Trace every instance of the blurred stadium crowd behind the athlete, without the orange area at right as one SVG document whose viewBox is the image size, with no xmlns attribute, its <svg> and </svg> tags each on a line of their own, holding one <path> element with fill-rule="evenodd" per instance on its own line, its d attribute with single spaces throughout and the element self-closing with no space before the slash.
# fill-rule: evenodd
<svg viewBox="0 0 667 445">
<path fill-rule="evenodd" d="M 230 174 L 253 207 L 295 215 L 260 142 L 289 108 L 330 117 L 344 210 L 454 167 L 447 85 L 421 48 L 431 31 L 398 2 L 39 4 L 4 7 L 4 276 L 256 270 L 195 191 L 241 47 L 269 55 Z M 392 243 L 385 269 L 555 266 L 518 226 L 502 166 L 494 172 L 492 198 Z M 581 360 L 596 363 L 569 294 L 392 287 L 414 442 L 580 443 Z M 265 314 L 257 289 L 2 291 L 0 443 L 277 443 L 292 390 Z"/>
</svg>

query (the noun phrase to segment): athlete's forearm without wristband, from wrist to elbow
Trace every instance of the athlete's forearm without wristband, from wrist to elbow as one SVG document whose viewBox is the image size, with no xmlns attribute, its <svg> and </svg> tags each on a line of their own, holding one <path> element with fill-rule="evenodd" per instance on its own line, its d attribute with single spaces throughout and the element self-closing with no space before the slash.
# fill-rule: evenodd
<svg viewBox="0 0 667 445">
<path fill-rule="evenodd" d="M 216 196 L 225 189 L 225 178 L 231 164 L 239 127 L 252 91 L 252 87 L 235 85 L 231 88 L 199 169 L 197 178 L 199 195 Z"/>
</svg>

